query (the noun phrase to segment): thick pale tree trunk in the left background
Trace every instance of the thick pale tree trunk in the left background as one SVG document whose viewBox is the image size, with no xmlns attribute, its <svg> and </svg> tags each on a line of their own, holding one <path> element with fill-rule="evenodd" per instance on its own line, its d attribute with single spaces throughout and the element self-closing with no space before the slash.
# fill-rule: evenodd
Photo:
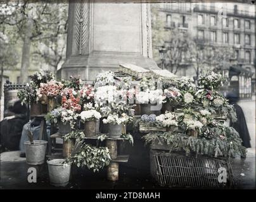
<svg viewBox="0 0 256 202">
<path fill-rule="evenodd" d="M 28 19 L 26 29 L 25 29 L 25 36 L 23 38 L 22 66 L 20 68 L 20 83 L 25 83 L 28 80 L 32 26 L 33 26 L 33 20 Z"/>
</svg>

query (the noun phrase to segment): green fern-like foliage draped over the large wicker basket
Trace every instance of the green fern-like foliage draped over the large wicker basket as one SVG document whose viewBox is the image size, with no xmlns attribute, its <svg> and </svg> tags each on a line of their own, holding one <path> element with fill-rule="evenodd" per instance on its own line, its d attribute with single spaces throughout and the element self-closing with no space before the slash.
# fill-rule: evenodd
<svg viewBox="0 0 256 202">
<path fill-rule="evenodd" d="M 215 136 L 208 139 L 203 136 L 188 136 L 179 132 L 148 133 L 143 136 L 146 143 L 158 140 L 170 145 L 170 151 L 186 151 L 186 154 L 208 155 L 210 157 L 245 157 L 246 148 L 241 145 L 239 134 L 229 127 L 211 128 Z"/>
</svg>

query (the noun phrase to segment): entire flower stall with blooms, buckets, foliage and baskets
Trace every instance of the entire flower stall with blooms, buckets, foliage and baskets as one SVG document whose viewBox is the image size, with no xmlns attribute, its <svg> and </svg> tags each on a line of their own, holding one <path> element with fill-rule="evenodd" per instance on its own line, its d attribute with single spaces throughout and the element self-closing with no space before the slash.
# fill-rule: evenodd
<svg viewBox="0 0 256 202">
<path fill-rule="evenodd" d="M 119 163 L 129 160 L 118 153 L 118 142 L 133 144 L 127 131 L 138 129 L 151 145 L 151 174 L 161 186 L 219 186 L 220 167 L 232 186 L 228 158 L 245 155 L 245 148 L 238 133 L 224 125 L 236 115 L 218 92 L 223 82 L 210 73 L 195 85 L 191 78 L 132 64 L 99 73 L 93 84 L 35 73 L 18 97 L 30 105 L 31 117 L 51 122 L 51 136 L 33 140 L 30 134 L 27 163 L 41 165 L 46 156 L 54 186 L 68 184 L 71 165 L 93 172 L 106 167 L 107 179 L 117 181 Z M 56 138 L 63 140 L 62 153 L 53 152 Z"/>
</svg>

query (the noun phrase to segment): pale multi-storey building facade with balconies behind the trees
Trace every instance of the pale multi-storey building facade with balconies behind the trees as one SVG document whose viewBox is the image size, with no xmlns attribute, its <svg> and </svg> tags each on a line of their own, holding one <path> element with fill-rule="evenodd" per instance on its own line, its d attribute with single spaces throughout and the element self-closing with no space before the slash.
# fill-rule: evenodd
<svg viewBox="0 0 256 202">
<path fill-rule="evenodd" d="M 165 30 L 188 32 L 191 39 L 212 47 L 229 47 L 236 61 L 236 73 L 229 74 L 231 84 L 239 88 L 240 98 L 255 92 L 255 8 L 246 3 L 161 3 L 152 4 L 153 15 L 163 21 Z M 152 20 L 155 16 L 152 16 Z M 154 29 L 154 27 L 152 26 Z M 153 44 L 153 49 L 159 49 Z M 168 47 L 168 42 L 165 45 Z M 157 51 L 155 51 L 156 56 Z M 221 62 L 221 61 L 220 61 Z M 160 63 L 160 62 L 158 62 Z M 189 64 L 179 76 L 195 76 Z"/>
</svg>

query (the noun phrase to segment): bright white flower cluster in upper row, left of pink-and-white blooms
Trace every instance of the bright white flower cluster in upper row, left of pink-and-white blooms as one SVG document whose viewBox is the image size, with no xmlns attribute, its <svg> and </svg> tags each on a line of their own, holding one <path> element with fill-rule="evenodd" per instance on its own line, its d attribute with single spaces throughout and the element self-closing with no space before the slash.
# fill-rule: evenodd
<svg viewBox="0 0 256 202">
<path fill-rule="evenodd" d="M 163 90 L 149 90 L 147 89 L 145 92 L 140 91 L 136 94 L 136 100 L 141 104 L 162 104 L 165 96 L 163 96 Z"/>
</svg>

